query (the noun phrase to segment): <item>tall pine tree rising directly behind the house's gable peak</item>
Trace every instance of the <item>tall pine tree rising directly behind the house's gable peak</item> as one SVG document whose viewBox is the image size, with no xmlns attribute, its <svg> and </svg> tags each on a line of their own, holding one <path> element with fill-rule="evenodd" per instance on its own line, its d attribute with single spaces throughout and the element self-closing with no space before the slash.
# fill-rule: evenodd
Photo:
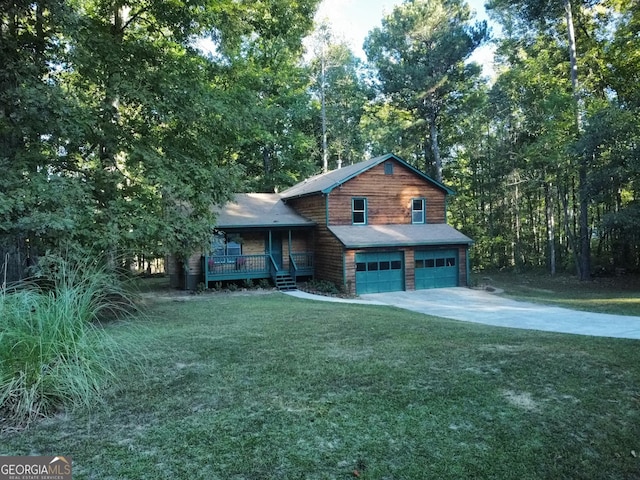
<svg viewBox="0 0 640 480">
<path fill-rule="evenodd" d="M 460 0 L 408 0 L 365 41 L 382 91 L 426 125 L 438 181 L 442 181 L 442 114 L 458 101 L 461 84 L 479 74 L 465 61 L 487 38 L 486 24 L 470 25 L 469 20 L 469 8 Z"/>
</svg>

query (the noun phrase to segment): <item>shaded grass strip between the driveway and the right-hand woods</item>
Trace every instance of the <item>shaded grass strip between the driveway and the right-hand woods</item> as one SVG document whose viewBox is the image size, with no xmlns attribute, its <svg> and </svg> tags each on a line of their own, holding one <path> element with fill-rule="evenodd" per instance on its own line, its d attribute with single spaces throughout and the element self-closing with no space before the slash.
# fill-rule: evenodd
<svg viewBox="0 0 640 480">
<path fill-rule="evenodd" d="M 640 316 L 640 276 L 594 278 L 546 273 L 487 272 L 474 274 L 478 285 L 493 286 L 518 300 L 553 304 L 574 310 Z"/>
</svg>

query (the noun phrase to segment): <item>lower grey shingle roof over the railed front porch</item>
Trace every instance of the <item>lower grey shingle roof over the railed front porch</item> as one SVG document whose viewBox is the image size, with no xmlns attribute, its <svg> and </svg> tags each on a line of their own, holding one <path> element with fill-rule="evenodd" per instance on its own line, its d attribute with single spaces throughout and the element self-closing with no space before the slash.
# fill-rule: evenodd
<svg viewBox="0 0 640 480">
<path fill-rule="evenodd" d="M 311 227 L 315 222 L 296 213 L 277 193 L 239 193 L 215 209 L 216 228 Z"/>
</svg>

